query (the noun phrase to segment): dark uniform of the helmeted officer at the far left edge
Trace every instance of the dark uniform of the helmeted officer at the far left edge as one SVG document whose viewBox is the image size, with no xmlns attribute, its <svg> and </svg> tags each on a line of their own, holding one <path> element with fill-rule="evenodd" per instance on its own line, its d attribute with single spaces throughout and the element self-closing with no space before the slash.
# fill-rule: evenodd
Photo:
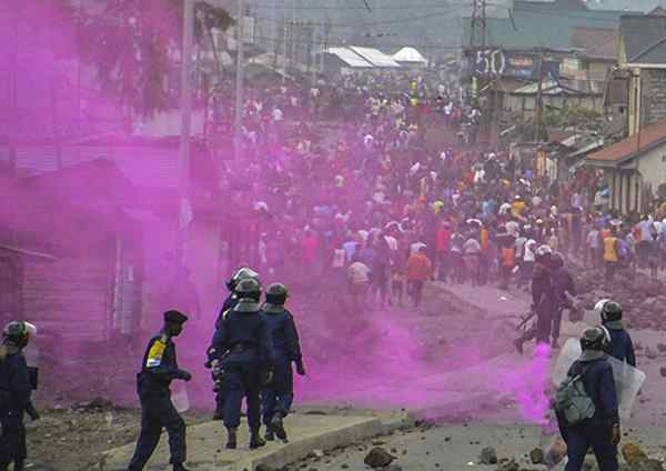
<svg viewBox="0 0 666 471">
<path fill-rule="evenodd" d="M 30 407 L 32 384 L 26 358 L 10 353 L 0 360 L 0 471 L 13 462 L 22 469 L 28 457 L 23 414 Z"/>
</svg>

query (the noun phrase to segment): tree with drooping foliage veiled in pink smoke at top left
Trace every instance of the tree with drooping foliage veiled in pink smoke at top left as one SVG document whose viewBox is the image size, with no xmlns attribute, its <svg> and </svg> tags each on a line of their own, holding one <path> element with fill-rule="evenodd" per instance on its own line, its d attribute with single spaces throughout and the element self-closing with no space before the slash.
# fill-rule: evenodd
<svg viewBox="0 0 666 471">
<path fill-rule="evenodd" d="M 72 0 L 60 0 L 72 1 Z M 103 0 L 102 8 L 78 8 L 81 56 L 102 87 L 143 117 L 176 103 L 174 73 L 181 60 L 183 0 Z M 195 3 L 196 47 L 208 41 L 214 50 L 213 30 L 226 30 L 233 19 L 220 8 Z M 216 53 L 215 53 L 216 56 Z"/>
</svg>

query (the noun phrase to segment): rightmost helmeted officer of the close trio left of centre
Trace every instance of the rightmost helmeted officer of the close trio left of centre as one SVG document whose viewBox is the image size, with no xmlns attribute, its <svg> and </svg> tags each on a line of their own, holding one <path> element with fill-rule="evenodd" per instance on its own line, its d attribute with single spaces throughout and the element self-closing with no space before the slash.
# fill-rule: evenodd
<svg viewBox="0 0 666 471">
<path fill-rule="evenodd" d="M 289 414 L 294 400 L 292 362 L 299 374 L 305 374 L 294 318 L 284 308 L 287 297 L 284 284 L 271 284 L 262 309 L 262 317 L 266 322 L 269 355 L 273 364 L 273 379 L 262 393 L 265 438 L 270 441 L 275 439 L 274 435 L 286 440 L 283 419 Z"/>
</svg>

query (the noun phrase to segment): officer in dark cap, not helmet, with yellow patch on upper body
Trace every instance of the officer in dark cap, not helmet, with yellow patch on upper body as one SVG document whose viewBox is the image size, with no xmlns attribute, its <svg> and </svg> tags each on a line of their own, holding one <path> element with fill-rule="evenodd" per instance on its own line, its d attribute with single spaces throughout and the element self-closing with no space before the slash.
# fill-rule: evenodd
<svg viewBox="0 0 666 471">
<path fill-rule="evenodd" d="M 192 375 L 178 367 L 173 338 L 181 334 L 188 317 L 179 311 L 164 312 L 164 327 L 148 343 L 137 391 L 141 401 L 141 433 L 129 471 L 141 471 L 160 442 L 162 429 L 169 433 L 173 471 L 186 471 L 185 422 L 171 402 L 171 381 L 190 381 Z"/>
</svg>

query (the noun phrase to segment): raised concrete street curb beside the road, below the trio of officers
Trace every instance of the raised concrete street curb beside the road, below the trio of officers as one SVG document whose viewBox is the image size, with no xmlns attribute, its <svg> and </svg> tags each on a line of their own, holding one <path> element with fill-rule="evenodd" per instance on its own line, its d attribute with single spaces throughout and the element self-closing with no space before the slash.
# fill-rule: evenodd
<svg viewBox="0 0 666 471">
<path fill-rule="evenodd" d="M 255 452 L 254 457 L 248 457 L 223 469 L 224 471 L 254 471 L 260 464 L 269 464 L 272 468 L 280 469 L 306 458 L 313 450 L 326 452 L 349 447 L 356 441 L 387 434 L 403 427 L 412 427 L 415 423 L 415 415 L 408 412 L 392 413 L 386 420 L 379 417 L 367 417 L 367 420 L 363 422 L 316 437 L 303 438 L 286 443 L 278 450 Z"/>
</svg>

